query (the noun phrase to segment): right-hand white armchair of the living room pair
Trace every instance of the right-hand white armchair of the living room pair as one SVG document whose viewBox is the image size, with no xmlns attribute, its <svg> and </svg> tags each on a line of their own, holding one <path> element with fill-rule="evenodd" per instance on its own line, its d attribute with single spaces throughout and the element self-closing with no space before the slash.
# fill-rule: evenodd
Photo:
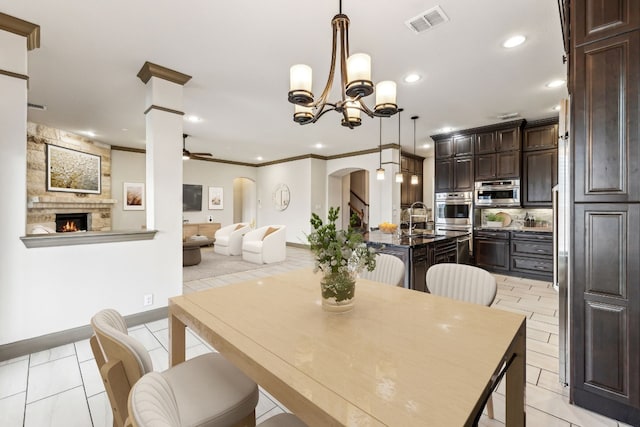
<svg viewBox="0 0 640 427">
<path fill-rule="evenodd" d="M 242 259 L 269 264 L 287 258 L 287 233 L 284 225 L 268 225 L 248 232 L 242 239 Z"/>
</svg>

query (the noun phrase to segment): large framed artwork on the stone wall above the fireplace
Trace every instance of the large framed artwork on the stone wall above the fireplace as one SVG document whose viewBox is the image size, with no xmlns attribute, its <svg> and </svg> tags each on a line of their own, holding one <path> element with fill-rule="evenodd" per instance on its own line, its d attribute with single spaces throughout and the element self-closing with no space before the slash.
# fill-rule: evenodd
<svg viewBox="0 0 640 427">
<path fill-rule="evenodd" d="M 47 144 L 47 191 L 100 194 L 101 158 Z"/>
</svg>

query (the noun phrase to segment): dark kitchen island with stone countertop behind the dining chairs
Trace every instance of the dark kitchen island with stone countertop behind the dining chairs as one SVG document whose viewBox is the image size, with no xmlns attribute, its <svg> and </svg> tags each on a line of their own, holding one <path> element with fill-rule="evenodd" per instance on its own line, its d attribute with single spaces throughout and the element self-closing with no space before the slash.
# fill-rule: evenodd
<svg viewBox="0 0 640 427">
<path fill-rule="evenodd" d="M 379 253 L 398 257 L 404 262 L 405 288 L 426 292 L 429 267 L 441 262 L 457 262 L 458 240 L 464 240 L 467 236 L 469 233 L 461 231 L 417 233 L 412 236 L 372 231 L 365 234 L 364 238 L 367 246 L 376 248 Z"/>
</svg>

